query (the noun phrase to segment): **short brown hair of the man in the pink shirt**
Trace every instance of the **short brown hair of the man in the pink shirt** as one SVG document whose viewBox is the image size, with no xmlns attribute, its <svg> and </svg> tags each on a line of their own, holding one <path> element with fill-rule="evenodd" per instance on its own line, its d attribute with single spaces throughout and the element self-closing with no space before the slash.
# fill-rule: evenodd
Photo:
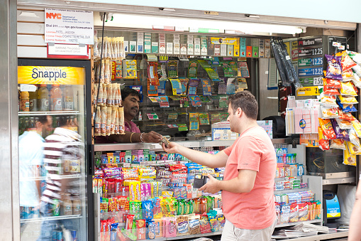
<svg viewBox="0 0 361 241">
<path fill-rule="evenodd" d="M 240 108 L 243 112 L 245 112 L 246 117 L 250 119 L 257 119 L 258 103 L 251 92 L 245 90 L 231 95 L 228 97 L 228 105 L 230 104 L 232 106 L 233 113 Z"/>
</svg>

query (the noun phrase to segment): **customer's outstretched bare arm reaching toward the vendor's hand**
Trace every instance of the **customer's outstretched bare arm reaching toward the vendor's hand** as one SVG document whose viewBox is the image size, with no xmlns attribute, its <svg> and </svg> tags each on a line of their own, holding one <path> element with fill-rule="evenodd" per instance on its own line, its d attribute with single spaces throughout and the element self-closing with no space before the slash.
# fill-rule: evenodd
<svg viewBox="0 0 361 241">
<path fill-rule="evenodd" d="M 163 150 L 167 153 L 178 153 L 187 159 L 194 161 L 196 164 L 208 166 L 210 168 L 218 168 L 226 166 L 228 156 L 224 151 L 219 151 L 218 154 L 209 154 L 202 151 L 195 151 L 187 147 L 181 146 L 175 142 L 170 142 L 167 147 L 162 145 Z"/>
</svg>

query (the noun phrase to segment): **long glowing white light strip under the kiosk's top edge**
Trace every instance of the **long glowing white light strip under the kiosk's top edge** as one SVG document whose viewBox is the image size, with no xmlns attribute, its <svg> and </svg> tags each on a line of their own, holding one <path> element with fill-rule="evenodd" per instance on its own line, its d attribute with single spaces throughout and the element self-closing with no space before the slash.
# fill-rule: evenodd
<svg viewBox="0 0 361 241">
<path fill-rule="evenodd" d="M 287 26 L 266 23 L 244 23 L 239 21 L 216 21 L 199 18 L 179 18 L 170 16 L 144 16 L 134 14 L 113 14 L 114 18 L 108 26 L 123 28 L 146 28 L 152 29 L 152 26 L 174 26 L 177 28 L 211 28 L 218 29 L 219 33 L 224 33 L 225 29 L 233 30 L 235 33 L 245 33 L 255 35 L 256 33 L 282 33 L 296 34 L 303 33 L 306 29 L 297 26 Z M 94 25 L 101 26 L 101 22 L 95 22 Z"/>
</svg>

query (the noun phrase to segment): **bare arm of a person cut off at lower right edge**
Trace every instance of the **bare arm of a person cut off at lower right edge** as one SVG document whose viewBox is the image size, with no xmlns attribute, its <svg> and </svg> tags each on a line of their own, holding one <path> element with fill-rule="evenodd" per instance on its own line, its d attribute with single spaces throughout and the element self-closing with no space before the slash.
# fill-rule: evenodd
<svg viewBox="0 0 361 241">
<path fill-rule="evenodd" d="M 356 191 L 356 200 L 353 205 L 351 218 L 350 218 L 350 230 L 348 232 L 348 241 L 360 241 L 361 240 L 361 184 L 358 183 Z"/>
</svg>

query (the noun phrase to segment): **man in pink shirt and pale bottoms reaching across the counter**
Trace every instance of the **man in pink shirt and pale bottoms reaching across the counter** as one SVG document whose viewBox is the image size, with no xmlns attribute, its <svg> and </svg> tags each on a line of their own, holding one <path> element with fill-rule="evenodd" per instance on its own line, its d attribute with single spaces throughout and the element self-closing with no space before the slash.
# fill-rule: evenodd
<svg viewBox="0 0 361 241">
<path fill-rule="evenodd" d="M 276 225 L 274 147 L 256 122 L 258 105 L 250 92 L 231 95 L 228 104 L 231 131 L 240 134 L 232 146 L 216 155 L 194 151 L 174 142 L 167 147 L 163 144 L 163 149 L 211 168 L 226 166 L 223 181 L 209 175 L 209 182 L 199 188 L 206 193 L 222 191 L 226 225 L 221 241 L 269 241 Z"/>
</svg>

